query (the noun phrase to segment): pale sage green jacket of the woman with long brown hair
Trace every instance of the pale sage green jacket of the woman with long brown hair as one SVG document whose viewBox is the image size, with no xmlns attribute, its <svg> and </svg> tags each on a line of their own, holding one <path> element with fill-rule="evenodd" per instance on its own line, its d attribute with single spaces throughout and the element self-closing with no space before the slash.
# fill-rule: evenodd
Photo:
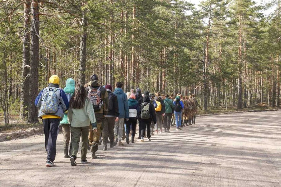
<svg viewBox="0 0 281 187">
<path fill-rule="evenodd" d="M 91 101 L 86 98 L 82 109 L 68 109 L 68 122 L 72 127 L 87 127 L 92 124 L 96 128 L 96 117 Z"/>
</svg>

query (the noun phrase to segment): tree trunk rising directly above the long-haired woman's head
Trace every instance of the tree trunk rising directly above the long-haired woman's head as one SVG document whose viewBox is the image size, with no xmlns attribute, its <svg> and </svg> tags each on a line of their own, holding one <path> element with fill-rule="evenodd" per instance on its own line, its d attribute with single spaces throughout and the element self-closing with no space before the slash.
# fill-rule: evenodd
<svg viewBox="0 0 281 187">
<path fill-rule="evenodd" d="M 84 12 L 86 13 L 86 11 Z M 80 65 L 79 65 L 79 83 L 85 84 L 86 56 L 87 56 L 87 18 L 82 17 L 82 36 L 80 39 Z"/>
</svg>

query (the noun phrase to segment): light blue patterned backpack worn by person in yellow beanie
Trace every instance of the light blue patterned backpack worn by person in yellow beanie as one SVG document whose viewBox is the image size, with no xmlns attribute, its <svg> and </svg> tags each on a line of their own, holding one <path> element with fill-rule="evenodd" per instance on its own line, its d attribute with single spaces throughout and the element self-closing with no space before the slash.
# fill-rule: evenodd
<svg viewBox="0 0 281 187">
<path fill-rule="evenodd" d="M 48 87 L 49 88 L 49 87 Z M 46 88 L 46 89 L 48 89 Z M 59 88 L 49 88 L 49 91 L 42 98 L 41 111 L 45 114 L 54 114 L 58 110 L 57 94 L 55 93 Z"/>
</svg>

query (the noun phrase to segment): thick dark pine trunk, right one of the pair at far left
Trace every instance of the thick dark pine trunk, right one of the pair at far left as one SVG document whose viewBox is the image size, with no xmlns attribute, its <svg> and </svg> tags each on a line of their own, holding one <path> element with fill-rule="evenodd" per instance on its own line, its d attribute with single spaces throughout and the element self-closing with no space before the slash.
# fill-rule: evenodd
<svg viewBox="0 0 281 187">
<path fill-rule="evenodd" d="M 38 122 L 38 110 L 34 105 L 35 98 L 38 94 L 38 67 L 39 67 L 39 5 L 38 0 L 31 1 L 31 50 L 30 50 L 30 88 L 29 88 L 29 105 L 28 105 L 28 123 Z"/>
</svg>

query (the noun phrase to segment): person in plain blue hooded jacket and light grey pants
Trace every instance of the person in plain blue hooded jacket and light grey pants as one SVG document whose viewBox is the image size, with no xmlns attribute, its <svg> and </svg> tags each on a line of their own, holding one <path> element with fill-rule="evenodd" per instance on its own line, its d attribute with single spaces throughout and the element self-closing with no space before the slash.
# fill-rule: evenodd
<svg viewBox="0 0 281 187">
<path fill-rule="evenodd" d="M 122 82 L 116 83 L 116 88 L 113 92 L 114 95 L 117 97 L 118 101 L 118 110 L 119 110 L 119 118 L 115 121 L 114 125 L 114 136 L 116 138 L 116 142 L 118 141 L 118 145 L 124 145 L 122 143 L 122 136 L 123 136 L 123 127 L 124 127 L 124 119 L 126 121 L 129 120 L 129 108 L 128 108 L 128 100 L 127 95 L 122 90 Z"/>
</svg>

